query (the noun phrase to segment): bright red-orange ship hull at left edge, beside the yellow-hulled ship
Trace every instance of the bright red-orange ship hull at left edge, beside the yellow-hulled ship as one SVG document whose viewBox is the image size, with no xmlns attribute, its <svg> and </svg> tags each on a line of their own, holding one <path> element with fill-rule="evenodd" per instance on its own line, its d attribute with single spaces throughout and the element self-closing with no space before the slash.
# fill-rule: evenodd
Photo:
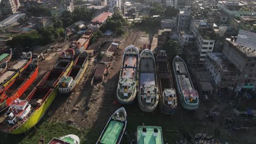
<svg viewBox="0 0 256 144">
<path fill-rule="evenodd" d="M 0 94 L 0 117 L 7 111 L 12 101 L 21 97 L 28 87 L 34 82 L 38 74 L 38 60 L 33 59 L 32 63 L 21 72 L 21 74 L 10 83 L 8 89 Z M 0 121 L 1 122 L 1 121 Z"/>
</svg>

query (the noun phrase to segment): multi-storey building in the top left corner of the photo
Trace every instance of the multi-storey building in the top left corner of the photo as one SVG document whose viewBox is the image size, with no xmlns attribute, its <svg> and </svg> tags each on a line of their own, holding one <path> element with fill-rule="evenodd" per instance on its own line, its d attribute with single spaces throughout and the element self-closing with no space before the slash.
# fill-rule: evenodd
<svg viewBox="0 0 256 144">
<path fill-rule="evenodd" d="M 19 0 L 2 0 L 0 1 L 0 10 L 2 14 L 9 15 L 14 14 L 20 7 Z"/>
</svg>

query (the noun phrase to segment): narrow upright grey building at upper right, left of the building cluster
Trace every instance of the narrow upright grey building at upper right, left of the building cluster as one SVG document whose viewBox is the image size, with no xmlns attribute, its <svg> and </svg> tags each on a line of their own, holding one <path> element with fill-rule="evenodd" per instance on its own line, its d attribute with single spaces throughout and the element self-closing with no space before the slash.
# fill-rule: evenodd
<svg viewBox="0 0 256 144">
<path fill-rule="evenodd" d="M 178 32 L 179 31 L 189 31 L 190 23 L 190 11 L 189 10 L 180 10 L 178 18 Z"/>
</svg>

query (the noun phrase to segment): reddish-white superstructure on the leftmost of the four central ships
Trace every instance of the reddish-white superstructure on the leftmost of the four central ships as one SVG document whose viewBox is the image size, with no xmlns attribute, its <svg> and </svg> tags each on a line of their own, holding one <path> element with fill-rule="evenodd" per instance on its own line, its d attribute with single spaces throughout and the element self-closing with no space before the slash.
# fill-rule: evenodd
<svg viewBox="0 0 256 144">
<path fill-rule="evenodd" d="M 133 68 L 124 68 L 123 74 L 120 80 L 121 89 L 120 92 L 124 94 L 125 97 L 128 97 L 132 92 L 132 86 L 135 86 L 135 69 Z"/>
</svg>

